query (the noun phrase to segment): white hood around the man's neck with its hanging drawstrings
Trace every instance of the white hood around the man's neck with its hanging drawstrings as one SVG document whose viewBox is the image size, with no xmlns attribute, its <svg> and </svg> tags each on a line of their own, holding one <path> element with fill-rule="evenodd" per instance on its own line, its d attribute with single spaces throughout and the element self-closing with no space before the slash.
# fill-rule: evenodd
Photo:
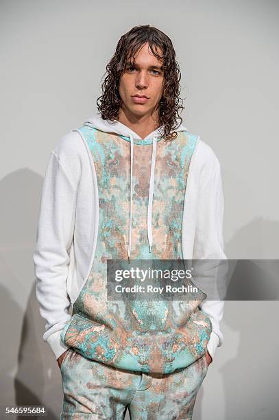
<svg viewBox="0 0 279 420">
<path fill-rule="evenodd" d="M 156 145 L 162 136 L 160 131 L 162 131 L 163 126 L 160 126 L 153 132 L 151 132 L 145 139 L 136 134 L 129 127 L 122 124 L 120 121 L 108 121 L 101 118 L 99 113 L 89 117 L 84 121 L 84 126 L 89 126 L 95 128 L 99 131 L 104 132 L 113 132 L 119 135 L 123 140 L 130 142 L 130 219 L 129 219 L 129 242 L 128 242 L 128 260 L 130 263 L 131 249 L 132 249 L 132 176 L 133 176 L 133 158 L 134 158 L 134 144 L 140 145 L 149 145 L 152 144 L 152 156 L 151 156 L 151 167 L 150 167 L 150 178 L 149 178 L 149 198 L 148 198 L 148 209 L 147 209 L 147 237 L 149 242 L 149 253 L 152 250 L 152 205 L 153 205 L 153 191 L 154 191 L 154 173 L 155 173 L 155 164 L 156 164 Z M 175 131 L 188 131 L 186 126 L 180 125 Z"/>
</svg>

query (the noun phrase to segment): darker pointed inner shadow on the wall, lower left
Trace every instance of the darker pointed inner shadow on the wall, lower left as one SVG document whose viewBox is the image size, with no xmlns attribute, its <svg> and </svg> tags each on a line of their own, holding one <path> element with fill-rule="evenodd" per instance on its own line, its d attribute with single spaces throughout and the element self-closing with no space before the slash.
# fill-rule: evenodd
<svg viewBox="0 0 279 420">
<path fill-rule="evenodd" d="M 14 377 L 16 405 L 41 405 L 47 409 L 47 419 L 57 419 L 62 408 L 60 370 L 54 355 L 42 342 L 45 322 L 40 317 L 35 283 L 26 305 L 21 330 L 18 369 Z M 50 404 L 51 402 L 51 404 Z M 18 417 L 24 420 L 26 417 Z M 38 419 L 42 417 L 38 416 Z"/>
</svg>

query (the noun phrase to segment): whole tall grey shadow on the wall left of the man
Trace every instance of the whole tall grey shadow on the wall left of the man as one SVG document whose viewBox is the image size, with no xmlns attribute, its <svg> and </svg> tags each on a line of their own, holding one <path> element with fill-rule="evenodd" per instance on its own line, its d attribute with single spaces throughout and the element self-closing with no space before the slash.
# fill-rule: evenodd
<svg viewBox="0 0 279 420">
<path fill-rule="evenodd" d="M 2 406 L 45 405 L 45 418 L 52 420 L 59 419 L 62 409 L 60 369 L 43 342 L 45 320 L 38 310 L 32 261 L 42 188 L 43 177 L 27 168 L 0 183 L 1 336 L 5 337 L 0 398 Z"/>
</svg>

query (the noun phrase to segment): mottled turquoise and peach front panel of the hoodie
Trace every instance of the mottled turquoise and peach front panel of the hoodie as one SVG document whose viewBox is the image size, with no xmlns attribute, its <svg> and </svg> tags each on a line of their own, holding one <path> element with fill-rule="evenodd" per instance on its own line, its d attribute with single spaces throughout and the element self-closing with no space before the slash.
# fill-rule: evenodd
<svg viewBox="0 0 279 420">
<path fill-rule="evenodd" d="M 171 373 L 206 352 L 212 324 L 202 300 L 107 301 L 106 261 L 128 258 L 130 139 L 83 126 L 99 190 L 99 231 L 93 266 L 73 304 L 61 339 L 86 358 L 119 369 Z M 143 142 L 143 141 L 142 141 Z M 131 259 L 183 259 L 182 217 L 186 180 L 197 137 L 178 132 L 158 139 L 152 209 L 152 252 L 147 206 L 152 145 L 135 141 Z"/>
</svg>

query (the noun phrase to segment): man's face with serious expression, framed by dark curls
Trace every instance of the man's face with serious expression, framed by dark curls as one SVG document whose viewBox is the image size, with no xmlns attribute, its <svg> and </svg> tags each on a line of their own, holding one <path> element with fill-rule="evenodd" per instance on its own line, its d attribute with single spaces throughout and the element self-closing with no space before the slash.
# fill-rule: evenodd
<svg viewBox="0 0 279 420">
<path fill-rule="evenodd" d="M 161 51 L 159 51 L 161 54 Z M 151 115 L 163 93 L 164 73 L 160 69 L 162 61 L 154 56 L 148 43 L 141 47 L 136 55 L 135 64 L 127 63 L 121 75 L 119 94 L 122 100 L 121 108 L 132 115 L 141 117 Z M 145 95 L 140 98 L 135 95 Z"/>
</svg>

